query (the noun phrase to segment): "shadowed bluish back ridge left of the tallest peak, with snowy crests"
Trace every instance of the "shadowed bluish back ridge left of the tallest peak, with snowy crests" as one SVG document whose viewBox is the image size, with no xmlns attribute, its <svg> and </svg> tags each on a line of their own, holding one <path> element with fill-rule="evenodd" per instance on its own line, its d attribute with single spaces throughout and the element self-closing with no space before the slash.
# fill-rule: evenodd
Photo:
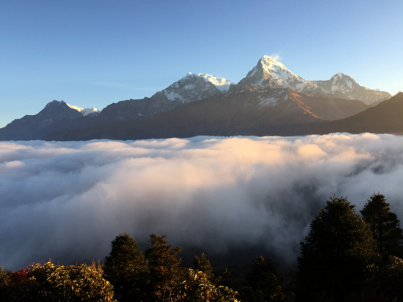
<svg viewBox="0 0 403 302">
<path fill-rule="evenodd" d="M 81 108 L 53 100 L 38 114 L 26 115 L 0 128 L 0 140 L 42 139 L 49 133 L 63 129 L 152 116 L 189 102 L 222 94 L 231 84 L 224 78 L 206 73 L 188 73 L 151 98 L 112 103 L 101 112 L 96 108 Z"/>
</svg>

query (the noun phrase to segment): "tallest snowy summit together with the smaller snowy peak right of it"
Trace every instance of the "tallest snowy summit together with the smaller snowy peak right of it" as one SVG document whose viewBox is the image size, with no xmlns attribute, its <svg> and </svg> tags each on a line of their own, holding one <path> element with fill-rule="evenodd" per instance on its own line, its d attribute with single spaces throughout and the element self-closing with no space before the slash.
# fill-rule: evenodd
<svg viewBox="0 0 403 302">
<path fill-rule="evenodd" d="M 355 99 L 366 104 L 389 99 L 391 95 L 358 85 L 347 74 L 336 73 L 327 81 L 308 81 L 291 72 L 276 57 L 263 55 L 256 66 L 238 85 L 255 85 L 271 88 L 289 88 L 296 92 L 327 97 Z"/>
</svg>

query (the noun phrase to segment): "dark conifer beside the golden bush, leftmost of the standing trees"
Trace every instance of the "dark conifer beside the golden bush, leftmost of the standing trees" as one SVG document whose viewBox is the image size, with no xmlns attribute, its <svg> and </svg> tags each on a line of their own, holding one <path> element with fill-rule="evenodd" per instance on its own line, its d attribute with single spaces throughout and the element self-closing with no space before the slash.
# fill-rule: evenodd
<svg viewBox="0 0 403 302">
<path fill-rule="evenodd" d="M 139 251 L 137 242 L 127 233 L 116 236 L 104 267 L 104 277 L 113 285 L 116 299 L 141 300 L 148 273 L 148 261 Z"/>
</svg>

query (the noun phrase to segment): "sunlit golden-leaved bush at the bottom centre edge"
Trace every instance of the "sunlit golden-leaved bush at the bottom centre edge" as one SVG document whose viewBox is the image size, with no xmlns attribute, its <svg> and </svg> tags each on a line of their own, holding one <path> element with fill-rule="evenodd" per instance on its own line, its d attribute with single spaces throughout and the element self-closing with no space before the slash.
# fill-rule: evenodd
<svg viewBox="0 0 403 302">
<path fill-rule="evenodd" d="M 174 284 L 169 300 L 172 302 L 237 302 L 236 291 L 216 286 L 203 271 L 186 269 Z"/>
</svg>

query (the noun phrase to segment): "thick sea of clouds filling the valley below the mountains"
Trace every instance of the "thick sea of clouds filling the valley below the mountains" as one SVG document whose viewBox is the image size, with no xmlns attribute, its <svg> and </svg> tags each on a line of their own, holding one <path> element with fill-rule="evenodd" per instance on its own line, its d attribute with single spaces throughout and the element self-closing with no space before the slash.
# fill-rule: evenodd
<svg viewBox="0 0 403 302">
<path fill-rule="evenodd" d="M 123 232 L 295 261 L 329 196 L 359 213 L 379 191 L 402 219 L 402 180 L 388 134 L 0 142 L 0 265 L 102 261 Z"/>
</svg>

